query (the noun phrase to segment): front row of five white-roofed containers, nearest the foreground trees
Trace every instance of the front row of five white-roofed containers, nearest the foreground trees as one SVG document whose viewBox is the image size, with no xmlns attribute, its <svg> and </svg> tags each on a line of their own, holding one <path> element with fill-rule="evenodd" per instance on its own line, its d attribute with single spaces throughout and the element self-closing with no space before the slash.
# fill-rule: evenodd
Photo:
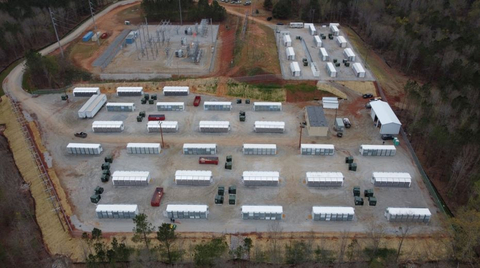
<svg viewBox="0 0 480 268">
<path fill-rule="evenodd" d="M 138 206 L 99 204 L 95 212 L 100 219 L 131 219 L 138 215 Z M 168 204 L 163 214 L 170 219 L 207 219 L 209 212 L 207 205 Z M 355 209 L 353 207 L 313 206 L 311 213 L 314 221 L 353 221 Z M 241 207 L 241 214 L 244 220 L 281 220 L 284 218 L 282 206 L 245 205 Z M 428 208 L 388 207 L 384 216 L 392 222 L 428 223 L 432 214 Z"/>
</svg>

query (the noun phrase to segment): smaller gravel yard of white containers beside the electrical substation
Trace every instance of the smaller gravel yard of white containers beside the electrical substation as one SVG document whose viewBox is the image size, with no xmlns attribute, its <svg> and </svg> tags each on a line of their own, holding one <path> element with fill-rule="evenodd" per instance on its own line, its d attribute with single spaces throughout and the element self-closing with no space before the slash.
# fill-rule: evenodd
<svg viewBox="0 0 480 268">
<path fill-rule="evenodd" d="M 282 76 L 287 80 L 374 81 L 338 23 L 276 26 Z M 331 36 L 330 36 L 331 35 Z"/>
</svg>

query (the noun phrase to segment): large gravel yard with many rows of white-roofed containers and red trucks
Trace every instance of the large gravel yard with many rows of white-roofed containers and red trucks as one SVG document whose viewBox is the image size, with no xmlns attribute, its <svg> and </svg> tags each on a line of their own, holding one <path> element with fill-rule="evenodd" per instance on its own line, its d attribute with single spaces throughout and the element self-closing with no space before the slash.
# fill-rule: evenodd
<svg viewBox="0 0 480 268">
<path fill-rule="evenodd" d="M 109 103 L 128 103 L 130 107 L 133 104 L 135 111 L 107 111 L 104 106 L 93 119 L 81 119 L 78 116 L 78 110 L 88 101 L 88 97 L 74 97 L 68 104 L 47 96 L 38 98 L 48 107 L 46 109 L 51 109 L 53 115 L 50 120 L 58 128 L 57 131 L 44 131 L 43 136 L 62 186 L 74 207 L 72 222 L 76 228 L 91 230 L 97 227 L 105 232 L 129 232 L 133 227 L 132 221 L 121 218 L 131 217 L 131 213 L 135 213 L 135 210 L 132 212 L 134 208 L 138 211 L 136 213 L 146 213 L 155 225 L 176 218 L 180 231 L 206 232 L 268 231 L 272 219 L 280 220 L 284 231 L 335 232 L 348 229 L 362 232 L 374 220 L 387 224 L 392 228 L 389 230 L 394 232 L 396 225 L 388 224 L 384 215 L 387 207 L 428 208 L 433 215 L 437 213 L 405 148 L 401 145 L 392 146 L 394 155 L 391 149 L 388 154 L 393 156 L 360 154 L 361 145 L 384 148 L 380 128 L 372 124 L 370 110 L 359 108 L 354 115 L 349 114 L 349 107 L 361 101 L 358 98 L 340 103 L 337 116 L 349 117 L 352 124 L 351 128 L 344 131 L 342 138 L 338 138 L 333 129 L 335 110 L 325 109 L 328 135 L 309 136 L 304 129 L 301 153 L 299 126 L 305 121 L 304 106 L 319 105 L 316 102 L 280 104 L 252 100 L 246 104 L 243 100 L 237 104 L 235 99 L 201 95 L 201 103 L 196 107 L 193 105 L 193 94 L 153 94 L 157 100 L 145 104 L 142 104 L 140 95 L 107 94 Z M 152 97 L 151 92 L 149 95 Z M 157 102 L 183 105 L 172 110 L 168 109 L 168 105 L 162 106 L 158 111 Z M 220 106 L 210 110 L 211 107 L 204 107 L 205 102 Z M 254 106 L 262 111 L 254 111 Z M 223 108 L 217 110 L 219 107 Z M 138 122 L 141 111 L 145 111 L 145 118 Z M 239 120 L 240 111 L 245 112 L 245 121 Z M 161 121 L 148 121 L 147 118 L 152 115 L 155 115 L 152 120 Z M 213 124 L 215 122 L 225 132 L 202 132 L 202 121 L 207 122 L 210 128 L 218 127 Z M 95 127 L 98 125 L 98 128 L 92 129 L 93 122 L 97 122 Z M 114 131 L 118 132 L 108 130 L 111 124 L 115 124 Z M 160 133 L 160 127 L 165 131 Z M 88 137 L 74 137 L 74 132 L 85 132 Z M 162 134 L 164 146 L 161 145 Z M 67 145 L 70 143 L 73 145 L 69 153 Z M 93 146 L 83 148 L 76 145 L 78 143 L 91 143 Z M 210 149 L 208 145 L 200 143 L 213 147 Z M 387 141 L 385 145 L 388 149 L 392 142 Z M 375 155 L 370 151 L 364 153 Z M 109 155 L 113 155 L 113 162 L 104 164 L 104 158 Z M 210 158 L 199 159 L 201 156 Z M 227 156 L 233 159 L 233 164 L 228 165 L 231 169 L 225 166 Z M 349 165 L 345 163 L 347 156 L 353 156 L 357 164 L 356 171 L 349 171 Z M 106 169 L 106 166 L 109 166 L 112 177 L 108 182 L 102 182 L 105 177 L 102 176 L 105 174 L 102 168 Z M 373 172 L 398 174 L 380 173 L 377 174 L 378 179 L 372 180 Z M 402 182 L 402 186 L 388 182 L 399 177 L 400 172 L 410 174 L 410 187 L 405 187 L 405 182 Z M 400 177 L 405 180 L 407 175 Z M 374 183 L 378 187 L 374 187 Z M 102 209 L 115 208 L 124 212 L 105 214 L 102 210 L 96 213 L 97 205 L 91 202 L 90 197 L 97 186 L 104 188 L 98 205 L 137 207 L 106 206 Z M 216 204 L 220 203 L 217 196 L 219 186 L 225 187 L 223 204 Z M 233 198 L 228 193 L 230 186 L 235 186 L 236 195 Z M 376 206 L 370 206 L 367 197 L 364 197 L 363 206 L 355 206 L 352 192 L 355 186 L 360 187 L 361 197 L 364 197 L 364 190 L 374 189 Z M 164 191 L 158 207 L 151 205 L 157 187 L 162 187 Z M 230 202 L 235 204 L 231 205 Z M 184 210 L 170 211 L 167 217 L 167 205 L 172 209 Z M 188 209 L 207 206 L 208 210 L 189 212 L 179 205 L 195 205 L 187 206 Z M 338 213 L 345 213 L 342 214 L 345 216 L 325 216 L 317 212 L 312 215 L 314 206 L 319 207 L 315 208 L 317 212 L 331 212 L 328 207 L 341 207 Z M 353 218 L 350 213 L 352 208 Z M 263 212 L 250 212 L 252 209 L 263 210 L 265 215 Z M 98 215 L 103 218 L 100 219 Z M 186 219 L 190 216 L 195 219 Z M 339 220 L 345 222 L 325 222 Z M 438 224 L 434 217 L 428 225 L 420 224 L 415 231 L 433 231 L 435 228 L 432 227 Z"/>
</svg>

